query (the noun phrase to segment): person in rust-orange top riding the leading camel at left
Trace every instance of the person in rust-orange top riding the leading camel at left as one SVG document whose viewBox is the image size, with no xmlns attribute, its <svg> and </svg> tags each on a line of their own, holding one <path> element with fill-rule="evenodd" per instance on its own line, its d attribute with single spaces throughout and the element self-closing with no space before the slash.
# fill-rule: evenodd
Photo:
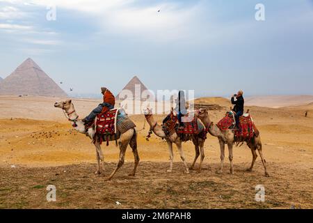
<svg viewBox="0 0 313 223">
<path fill-rule="evenodd" d="M 93 111 L 88 116 L 86 116 L 86 118 L 83 118 L 82 121 L 85 123 L 85 125 L 94 121 L 97 114 L 108 112 L 114 108 L 115 97 L 113 93 L 104 87 L 101 88 L 101 93 L 103 95 L 103 103 L 99 104 L 98 107 L 93 109 Z"/>
</svg>

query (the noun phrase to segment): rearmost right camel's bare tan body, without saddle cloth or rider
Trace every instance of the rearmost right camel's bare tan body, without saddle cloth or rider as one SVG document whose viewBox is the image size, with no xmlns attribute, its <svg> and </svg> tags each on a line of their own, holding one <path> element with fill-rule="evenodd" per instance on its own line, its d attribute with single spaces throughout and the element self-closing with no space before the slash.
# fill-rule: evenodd
<svg viewBox="0 0 313 223">
<path fill-rule="evenodd" d="M 196 114 L 202 123 L 204 123 L 205 127 L 207 128 L 207 131 L 214 137 L 218 138 L 218 141 L 220 143 L 220 169 L 217 171 L 219 174 L 223 173 L 223 162 L 225 157 L 225 144 L 228 146 L 229 151 L 229 159 L 230 159 L 230 173 L 234 173 L 234 168 L 232 164 L 233 160 L 233 154 L 232 154 L 232 147 L 234 145 L 235 139 L 234 139 L 234 132 L 233 130 L 226 130 L 221 131 L 217 125 L 214 125 L 213 122 L 211 122 L 209 118 L 209 113 L 206 109 L 200 109 L 198 114 Z M 250 148 L 252 152 L 252 163 L 251 167 L 247 169 L 247 171 L 252 171 L 253 165 L 255 164 L 255 160 L 257 159 L 257 152 L 259 151 L 259 156 L 261 157 L 264 170 L 265 170 L 265 176 L 269 176 L 268 172 L 266 171 L 266 161 L 262 154 L 262 142 L 261 137 L 258 135 L 257 137 L 254 136 L 250 141 L 247 142 L 248 147 Z"/>
</svg>

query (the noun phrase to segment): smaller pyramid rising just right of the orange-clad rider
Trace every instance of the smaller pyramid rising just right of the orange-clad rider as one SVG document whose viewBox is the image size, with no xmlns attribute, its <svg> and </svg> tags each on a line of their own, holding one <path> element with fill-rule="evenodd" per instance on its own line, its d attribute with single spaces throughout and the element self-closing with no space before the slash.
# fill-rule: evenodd
<svg viewBox="0 0 313 223">
<path fill-rule="evenodd" d="M 137 89 L 137 92 L 136 92 Z M 141 80 L 137 77 L 134 76 L 131 78 L 131 80 L 126 84 L 126 86 L 116 95 L 116 100 L 125 100 L 125 93 L 131 93 L 133 95 L 133 98 L 128 98 L 129 100 L 141 100 L 143 101 L 144 99 L 141 98 L 141 95 L 143 91 L 149 91 L 145 84 L 141 82 Z"/>
</svg>

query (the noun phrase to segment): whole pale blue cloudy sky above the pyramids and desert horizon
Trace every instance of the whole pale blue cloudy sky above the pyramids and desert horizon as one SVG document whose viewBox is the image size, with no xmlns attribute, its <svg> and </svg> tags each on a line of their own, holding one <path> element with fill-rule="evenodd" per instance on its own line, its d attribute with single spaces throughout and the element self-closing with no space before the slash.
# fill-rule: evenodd
<svg viewBox="0 0 313 223">
<path fill-rule="evenodd" d="M 67 93 L 313 95 L 312 28 L 312 0 L 0 0 L 0 77 L 31 57 Z"/>
</svg>

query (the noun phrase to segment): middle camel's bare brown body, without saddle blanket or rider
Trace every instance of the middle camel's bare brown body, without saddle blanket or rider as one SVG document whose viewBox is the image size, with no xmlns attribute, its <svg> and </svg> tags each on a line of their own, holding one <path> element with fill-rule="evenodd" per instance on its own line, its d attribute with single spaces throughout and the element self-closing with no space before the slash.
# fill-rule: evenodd
<svg viewBox="0 0 313 223">
<path fill-rule="evenodd" d="M 172 144 L 174 143 L 178 148 L 178 151 L 180 153 L 180 157 L 182 158 L 182 162 L 184 162 L 184 165 L 186 168 L 184 172 L 186 174 L 188 174 L 189 169 L 188 169 L 186 159 L 184 156 L 184 151 L 182 149 L 182 139 L 180 139 L 180 137 L 177 135 L 175 129 L 173 129 L 171 132 L 169 132 L 169 134 L 166 134 L 163 131 L 162 126 L 159 125 L 157 123 L 157 121 L 154 121 L 154 117 L 152 115 L 151 109 L 145 110 L 145 118 L 147 119 L 147 123 L 149 123 L 149 125 L 150 125 L 150 131 L 153 131 L 154 134 L 156 134 L 158 137 L 161 137 L 162 139 L 166 139 L 166 142 L 168 144 L 168 150 L 170 152 L 170 169 L 168 169 L 168 172 L 169 173 L 172 172 L 172 162 L 174 159 L 174 154 L 172 151 Z M 199 122 L 199 124 L 202 125 L 202 123 L 200 123 L 200 122 Z M 193 135 L 192 137 L 186 137 L 186 139 L 184 139 L 184 141 L 189 141 L 189 140 L 193 141 L 193 144 L 195 145 L 195 159 L 193 160 L 193 164 L 191 165 L 191 169 L 193 169 L 195 167 L 195 162 L 198 160 L 198 157 L 201 154 L 200 167 L 198 169 L 198 171 L 200 172 L 202 169 L 202 162 L 204 160 L 204 141 L 205 141 L 205 139 L 198 137 L 198 135 Z"/>
</svg>

